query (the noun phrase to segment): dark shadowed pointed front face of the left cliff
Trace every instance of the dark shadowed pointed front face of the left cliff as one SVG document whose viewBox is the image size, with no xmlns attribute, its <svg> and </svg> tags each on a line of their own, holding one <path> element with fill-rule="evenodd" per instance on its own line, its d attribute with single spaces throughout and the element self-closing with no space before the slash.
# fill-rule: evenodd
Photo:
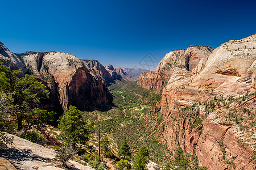
<svg viewBox="0 0 256 170">
<path fill-rule="evenodd" d="M 66 84 L 63 91 L 63 104 L 75 105 L 80 110 L 101 108 L 102 101 L 108 102 L 108 88 L 100 76 L 92 75 L 85 67 L 80 67 Z"/>
</svg>

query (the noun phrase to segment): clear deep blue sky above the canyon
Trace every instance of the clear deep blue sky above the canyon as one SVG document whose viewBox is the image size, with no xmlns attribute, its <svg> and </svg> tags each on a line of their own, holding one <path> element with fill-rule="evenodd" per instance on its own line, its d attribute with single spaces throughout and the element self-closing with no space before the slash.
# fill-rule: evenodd
<svg viewBox="0 0 256 170">
<path fill-rule="evenodd" d="M 1 1 L 0 41 L 12 52 L 60 51 L 140 67 L 151 52 L 216 48 L 256 33 L 256 1 Z"/>
</svg>

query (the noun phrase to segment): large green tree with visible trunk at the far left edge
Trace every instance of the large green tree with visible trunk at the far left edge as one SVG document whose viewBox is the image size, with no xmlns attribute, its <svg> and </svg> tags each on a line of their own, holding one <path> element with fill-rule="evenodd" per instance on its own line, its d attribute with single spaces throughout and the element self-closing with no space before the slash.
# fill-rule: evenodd
<svg viewBox="0 0 256 170">
<path fill-rule="evenodd" d="M 22 76 L 20 70 L 10 70 L 10 67 L 0 64 L 0 92 L 9 100 L 3 103 L 1 110 L 16 116 L 18 130 L 22 129 L 22 120 L 42 98 L 47 98 L 49 92 L 35 76 Z M 2 99 L 1 99 L 2 100 Z"/>
</svg>

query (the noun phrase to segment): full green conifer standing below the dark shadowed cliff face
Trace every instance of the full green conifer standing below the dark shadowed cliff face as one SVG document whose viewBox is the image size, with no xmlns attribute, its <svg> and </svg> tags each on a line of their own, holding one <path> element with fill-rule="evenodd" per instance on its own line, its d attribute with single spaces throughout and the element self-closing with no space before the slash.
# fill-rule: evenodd
<svg viewBox="0 0 256 170">
<path fill-rule="evenodd" d="M 86 123 L 82 119 L 81 112 L 74 106 L 70 106 L 68 111 L 60 118 L 59 129 L 61 133 L 58 138 L 65 145 L 72 145 L 75 150 L 77 143 L 85 143 L 88 141 L 88 131 Z"/>
</svg>

